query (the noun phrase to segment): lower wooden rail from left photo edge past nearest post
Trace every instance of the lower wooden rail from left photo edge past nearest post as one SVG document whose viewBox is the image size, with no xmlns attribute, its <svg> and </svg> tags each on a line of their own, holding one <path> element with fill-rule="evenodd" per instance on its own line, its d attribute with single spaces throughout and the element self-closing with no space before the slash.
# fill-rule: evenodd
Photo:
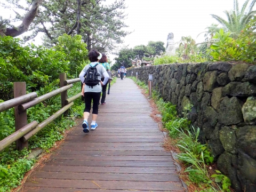
<svg viewBox="0 0 256 192">
<path fill-rule="evenodd" d="M 27 134 L 29 131 L 33 130 L 38 123 L 36 121 L 33 121 L 25 126 L 23 126 L 18 131 L 15 131 L 8 137 L 4 138 L 2 141 L 0 141 L 0 152 L 4 150 L 6 147 L 10 146 L 13 142 L 20 139 L 23 135 Z"/>
</svg>

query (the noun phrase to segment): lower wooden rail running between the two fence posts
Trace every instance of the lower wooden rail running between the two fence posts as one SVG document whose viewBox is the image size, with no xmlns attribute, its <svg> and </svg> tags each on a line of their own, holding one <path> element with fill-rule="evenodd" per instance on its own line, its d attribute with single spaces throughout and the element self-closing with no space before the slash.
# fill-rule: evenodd
<svg viewBox="0 0 256 192">
<path fill-rule="evenodd" d="M 29 138 L 31 138 L 33 135 L 35 135 L 38 131 L 42 130 L 44 127 L 46 127 L 47 125 L 49 125 L 51 122 L 53 122 L 57 117 L 61 116 L 66 110 L 68 110 L 71 106 L 74 105 L 74 102 L 69 103 L 68 105 L 66 105 L 65 107 L 61 108 L 60 110 L 58 110 L 56 113 L 54 113 L 51 117 L 45 119 L 45 121 L 43 121 L 42 123 L 40 123 L 39 125 L 36 126 L 36 128 L 32 131 L 30 131 L 29 133 L 27 133 L 26 135 L 24 135 L 21 140 L 23 142 L 27 141 Z"/>
</svg>

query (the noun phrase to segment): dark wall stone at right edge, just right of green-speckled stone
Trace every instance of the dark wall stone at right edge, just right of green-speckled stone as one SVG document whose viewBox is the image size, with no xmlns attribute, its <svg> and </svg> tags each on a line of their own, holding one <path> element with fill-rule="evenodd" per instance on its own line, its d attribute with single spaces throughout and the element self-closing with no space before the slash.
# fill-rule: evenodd
<svg viewBox="0 0 256 192">
<path fill-rule="evenodd" d="M 256 126 L 243 126 L 236 130 L 237 146 L 256 159 Z"/>
</svg>

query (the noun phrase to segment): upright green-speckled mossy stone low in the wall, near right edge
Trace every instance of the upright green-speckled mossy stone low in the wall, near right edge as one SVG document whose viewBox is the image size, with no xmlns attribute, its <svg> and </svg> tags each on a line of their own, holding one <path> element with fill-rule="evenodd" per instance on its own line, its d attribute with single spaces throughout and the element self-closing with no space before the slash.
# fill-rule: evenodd
<svg viewBox="0 0 256 192">
<path fill-rule="evenodd" d="M 231 154 L 237 153 L 236 133 L 235 130 L 228 126 L 224 126 L 220 130 L 220 141 L 223 148 Z"/>
</svg>

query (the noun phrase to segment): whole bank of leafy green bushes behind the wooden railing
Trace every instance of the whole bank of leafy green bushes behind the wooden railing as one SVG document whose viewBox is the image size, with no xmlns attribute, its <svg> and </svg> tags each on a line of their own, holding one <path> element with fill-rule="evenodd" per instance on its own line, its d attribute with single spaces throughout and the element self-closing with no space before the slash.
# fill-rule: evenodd
<svg viewBox="0 0 256 192">
<path fill-rule="evenodd" d="M 31 92 L 58 79 L 60 73 L 77 76 L 88 62 L 87 53 L 79 35 L 60 36 L 58 45 L 51 49 L 24 46 L 18 38 L 0 36 L 0 99 L 12 99 L 13 82 L 26 82 Z"/>
</svg>

